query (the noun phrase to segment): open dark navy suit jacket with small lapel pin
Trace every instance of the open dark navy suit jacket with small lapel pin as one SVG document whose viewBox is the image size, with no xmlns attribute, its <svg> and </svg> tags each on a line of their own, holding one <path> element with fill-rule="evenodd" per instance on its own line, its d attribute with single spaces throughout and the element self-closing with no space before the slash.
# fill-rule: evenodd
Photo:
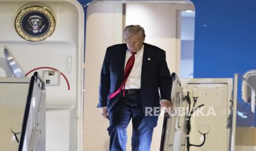
<svg viewBox="0 0 256 151">
<path fill-rule="evenodd" d="M 126 44 L 113 45 L 106 50 L 101 69 L 100 96 L 97 107 L 107 106 L 108 113 L 111 112 L 115 102 L 121 96 L 120 93 L 114 98 L 108 98 L 123 82 L 126 51 Z M 165 51 L 146 43 L 144 43 L 141 66 L 140 90 L 144 114 L 145 107 L 160 107 L 160 100 L 171 100 L 171 75 L 167 67 Z M 151 127 L 156 126 L 157 116 L 146 116 L 145 118 Z"/>
</svg>

